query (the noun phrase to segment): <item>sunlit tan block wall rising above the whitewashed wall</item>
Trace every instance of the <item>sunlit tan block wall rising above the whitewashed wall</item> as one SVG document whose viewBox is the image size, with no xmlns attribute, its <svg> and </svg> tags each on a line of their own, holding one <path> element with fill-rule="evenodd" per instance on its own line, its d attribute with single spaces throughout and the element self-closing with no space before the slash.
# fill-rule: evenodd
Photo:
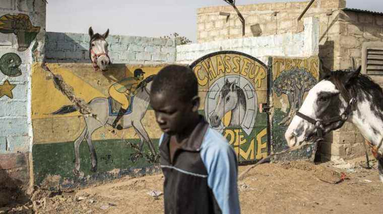
<svg viewBox="0 0 383 214">
<path fill-rule="evenodd" d="M 307 2 L 267 3 L 238 6 L 245 19 L 245 36 L 268 36 L 303 31 L 303 22 L 297 19 Z M 329 12 L 344 8 L 344 0 L 317 0 L 304 17 L 326 18 Z M 230 13 L 220 16 L 220 12 Z M 320 22 L 327 22 L 321 19 Z M 322 31 L 321 31 L 322 32 Z M 201 8 L 197 11 L 197 41 L 199 43 L 242 38 L 242 24 L 231 6 Z"/>
</svg>

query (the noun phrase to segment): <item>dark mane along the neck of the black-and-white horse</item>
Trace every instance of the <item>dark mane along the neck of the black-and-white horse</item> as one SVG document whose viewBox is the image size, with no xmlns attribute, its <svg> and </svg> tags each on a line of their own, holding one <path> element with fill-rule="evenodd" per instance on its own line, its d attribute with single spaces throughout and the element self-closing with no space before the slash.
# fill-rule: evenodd
<svg viewBox="0 0 383 214">
<path fill-rule="evenodd" d="M 337 70 L 330 72 L 330 75 L 325 79 L 331 81 L 342 92 L 342 95 L 347 99 L 356 97 L 359 101 L 368 99 L 371 104 L 376 104 L 380 110 L 383 110 L 383 90 L 382 88 L 371 80 L 370 77 L 364 74 L 359 74 L 357 78 L 352 78 L 345 85 L 342 79 L 350 71 Z M 346 93 L 348 91 L 348 94 Z M 363 93 L 370 96 L 363 96 Z M 351 97 L 350 97 L 351 96 Z M 371 99 L 372 97 L 372 99 Z"/>
</svg>

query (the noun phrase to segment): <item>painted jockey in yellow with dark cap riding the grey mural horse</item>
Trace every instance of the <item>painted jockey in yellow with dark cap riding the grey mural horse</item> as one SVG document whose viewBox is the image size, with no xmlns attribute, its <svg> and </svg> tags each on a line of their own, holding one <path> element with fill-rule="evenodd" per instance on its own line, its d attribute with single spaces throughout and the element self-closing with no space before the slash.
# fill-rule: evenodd
<svg viewBox="0 0 383 214">
<path fill-rule="evenodd" d="M 134 71 L 134 77 L 126 77 L 109 87 L 109 95 L 121 104 L 117 117 L 112 124 L 113 129 L 122 130 L 122 126 L 117 125 L 117 123 L 129 108 L 131 97 L 136 95 L 137 86 L 144 79 L 144 73 L 141 68 L 137 68 Z"/>
</svg>

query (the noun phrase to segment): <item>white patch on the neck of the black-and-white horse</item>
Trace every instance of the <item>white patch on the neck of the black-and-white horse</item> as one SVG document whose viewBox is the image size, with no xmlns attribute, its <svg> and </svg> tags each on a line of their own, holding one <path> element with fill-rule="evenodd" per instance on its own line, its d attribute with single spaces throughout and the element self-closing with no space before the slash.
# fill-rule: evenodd
<svg viewBox="0 0 383 214">
<path fill-rule="evenodd" d="M 383 139 L 383 110 L 371 103 L 369 95 L 363 92 L 363 96 L 364 99 L 357 101 L 357 108 L 352 112 L 350 122 L 359 129 L 364 139 L 378 145 Z M 380 149 L 383 150 L 383 147 Z"/>
</svg>

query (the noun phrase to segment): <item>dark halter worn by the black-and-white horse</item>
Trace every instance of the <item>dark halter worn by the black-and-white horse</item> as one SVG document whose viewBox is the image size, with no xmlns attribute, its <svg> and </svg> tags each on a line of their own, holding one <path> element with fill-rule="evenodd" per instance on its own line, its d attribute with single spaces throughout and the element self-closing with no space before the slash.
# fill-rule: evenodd
<svg viewBox="0 0 383 214">
<path fill-rule="evenodd" d="M 328 120 L 315 120 L 315 119 L 312 119 L 312 118 L 310 118 L 310 117 L 300 113 L 299 111 L 296 112 L 296 116 L 302 118 L 303 120 L 306 120 L 310 124 L 313 124 L 315 126 L 315 128 L 316 128 L 316 135 L 317 135 L 317 137 L 318 138 L 322 138 L 323 137 L 323 132 L 325 131 L 325 126 L 328 126 L 328 125 L 330 125 L 332 123 L 339 122 L 339 121 L 342 121 L 343 123 L 346 122 L 346 120 L 348 119 L 348 116 L 350 115 L 350 113 L 352 111 L 354 111 L 355 108 L 356 108 L 355 107 L 355 103 L 356 103 L 356 99 L 355 98 L 351 98 L 350 101 L 348 102 L 346 110 L 341 115 L 332 117 L 332 118 L 330 118 Z"/>
</svg>

